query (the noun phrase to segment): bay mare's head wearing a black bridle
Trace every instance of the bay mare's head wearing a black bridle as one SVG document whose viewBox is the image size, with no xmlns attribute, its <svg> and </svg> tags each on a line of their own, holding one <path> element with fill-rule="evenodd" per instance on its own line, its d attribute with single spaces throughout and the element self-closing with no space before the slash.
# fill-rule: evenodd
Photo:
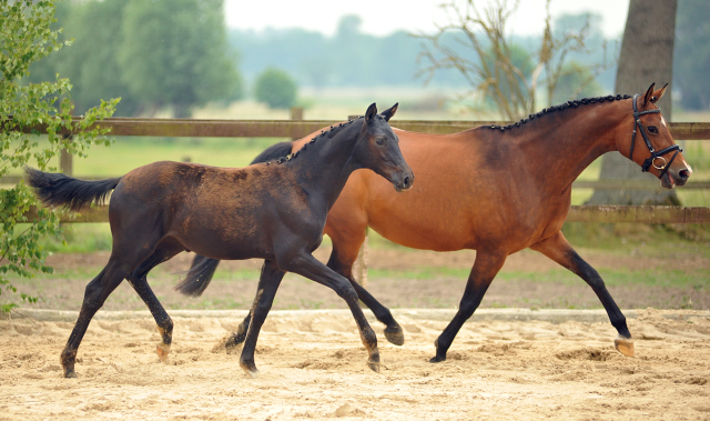
<svg viewBox="0 0 710 421">
<path fill-rule="evenodd" d="M 633 131 L 621 129 L 616 139 L 621 154 L 638 163 L 641 171 L 658 177 L 663 188 L 672 189 L 686 184 L 692 169 L 673 141 L 660 109 L 656 107 L 667 86 L 653 90 L 655 83 L 651 83 L 646 94 L 633 97 L 631 110 L 628 111 L 633 117 Z M 623 127 L 627 127 L 626 123 Z"/>
</svg>

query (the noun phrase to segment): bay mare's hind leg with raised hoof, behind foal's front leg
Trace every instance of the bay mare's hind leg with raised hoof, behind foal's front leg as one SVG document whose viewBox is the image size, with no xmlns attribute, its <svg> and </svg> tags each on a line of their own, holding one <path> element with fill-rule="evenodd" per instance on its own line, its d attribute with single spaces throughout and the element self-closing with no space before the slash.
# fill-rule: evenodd
<svg viewBox="0 0 710 421">
<path fill-rule="evenodd" d="M 357 223 L 357 221 L 348 220 L 348 222 L 333 221 L 333 218 L 328 215 L 328 225 L 325 232 L 331 237 L 333 241 L 333 252 L 328 259 L 327 267 L 333 269 L 336 273 L 345 277 L 361 301 L 373 311 L 375 318 L 385 324 L 385 338 L 387 341 L 395 345 L 404 344 L 404 332 L 402 327 L 388 308 L 379 303 L 363 285 L 355 281 L 353 277 L 353 264 L 359 253 L 359 248 L 365 241 L 365 234 L 367 231 L 367 223 Z M 332 224 L 337 223 L 337 230 L 331 228 Z"/>
</svg>

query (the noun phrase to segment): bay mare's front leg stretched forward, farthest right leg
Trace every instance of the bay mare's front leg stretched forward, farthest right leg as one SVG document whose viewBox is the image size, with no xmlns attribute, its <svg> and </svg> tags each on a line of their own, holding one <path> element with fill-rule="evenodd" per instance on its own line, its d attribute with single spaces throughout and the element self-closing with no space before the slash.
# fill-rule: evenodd
<svg viewBox="0 0 710 421">
<path fill-rule="evenodd" d="M 633 357 L 633 339 L 626 324 L 626 317 L 619 310 L 619 307 L 607 291 L 607 287 L 599 273 L 589 263 L 577 254 L 575 249 L 569 244 L 561 231 L 555 235 L 530 245 L 530 249 L 539 251 L 555 262 L 575 272 L 585 280 L 595 291 L 599 301 L 607 310 L 611 325 L 617 329 L 619 337 L 613 341 L 616 349 L 627 357 Z"/>
</svg>

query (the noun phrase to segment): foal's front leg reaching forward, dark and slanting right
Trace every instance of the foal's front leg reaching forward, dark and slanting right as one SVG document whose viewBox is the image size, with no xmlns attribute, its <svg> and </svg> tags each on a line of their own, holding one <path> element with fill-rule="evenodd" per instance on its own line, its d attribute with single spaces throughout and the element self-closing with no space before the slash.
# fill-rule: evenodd
<svg viewBox="0 0 710 421">
<path fill-rule="evenodd" d="M 284 262 L 280 265 L 290 272 L 298 273 L 302 277 L 308 278 L 315 282 L 318 282 L 323 285 L 326 285 L 334 290 L 338 297 L 341 297 L 349 307 L 351 312 L 353 313 L 353 318 L 357 323 L 357 328 L 359 330 L 361 340 L 367 350 L 369 355 L 367 360 L 367 365 L 371 370 L 375 372 L 379 372 L 379 350 L 377 349 L 377 335 L 375 335 L 375 331 L 371 328 L 363 310 L 359 308 L 357 302 L 357 292 L 351 284 L 351 282 L 343 278 L 341 274 L 333 271 L 333 269 L 326 267 L 321 263 L 317 259 L 315 259 L 310 253 L 305 251 L 300 253 L 296 258 Z M 250 328 L 251 333 L 251 328 Z"/>
</svg>

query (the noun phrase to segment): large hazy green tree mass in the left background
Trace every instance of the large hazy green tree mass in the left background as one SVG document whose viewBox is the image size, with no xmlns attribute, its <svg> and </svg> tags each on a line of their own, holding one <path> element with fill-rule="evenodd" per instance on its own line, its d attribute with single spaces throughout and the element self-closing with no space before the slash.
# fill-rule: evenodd
<svg viewBox="0 0 710 421">
<path fill-rule="evenodd" d="M 120 96 L 122 116 L 194 107 L 242 96 L 235 53 L 226 43 L 223 0 L 104 0 L 64 2 L 58 20 L 74 39 L 33 67 L 74 82 L 83 112 L 100 98 Z"/>
</svg>

